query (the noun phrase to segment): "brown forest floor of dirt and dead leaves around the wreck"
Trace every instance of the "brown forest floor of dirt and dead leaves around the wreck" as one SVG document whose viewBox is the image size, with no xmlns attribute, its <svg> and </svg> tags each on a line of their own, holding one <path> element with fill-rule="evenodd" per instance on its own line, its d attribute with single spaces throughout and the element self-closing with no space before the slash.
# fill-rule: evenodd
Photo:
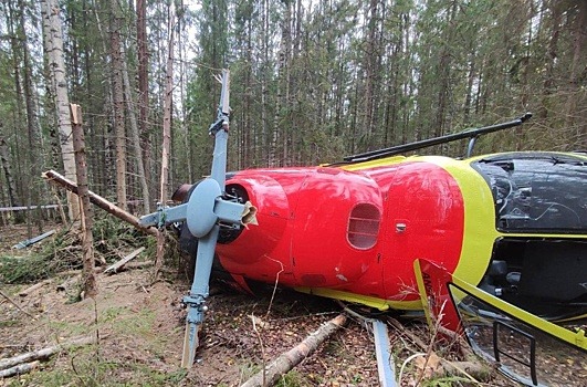
<svg viewBox="0 0 587 387">
<path fill-rule="evenodd" d="M 0 257 L 15 254 L 10 247 L 27 239 L 27 230 L 0 228 Z M 18 254 L 29 257 L 24 250 Z M 31 283 L 9 285 L 0 278 L 0 291 L 10 297 L 0 297 L 0 359 L 74 337 L 98 337 L 95 345 L 57 353 L 30 374 L 0 378 L 0 386 L 239 386 L 342 311 L 328 300 L 291 291 L 277 290 L 272 297 L 269 289 L 253 297 L 214 283 L 196 364 L 186 370 L 179 366 L 186 317 L 180 300 L 189 283 L 169 270 L 156 282 L 150 269 L 96 278 L 97 296 L 78 302 L 75 274 L 52 276 L 27 296 L 19 292 Z M 429 343 L 422 322 L 406 330 Z M 392 328 L 390 341 L 397 376 L 402 363 L 422 349 Z M 407 362 L 401 385 L 416 385 L 421 372 L 418 362 Z M 422 385 L 513 385 L 499 375 L 483 384 L 463 380 L 451 376 Z M 279 385 L 377 386 L 370 326 L 352 317 Z"/>
</svg>

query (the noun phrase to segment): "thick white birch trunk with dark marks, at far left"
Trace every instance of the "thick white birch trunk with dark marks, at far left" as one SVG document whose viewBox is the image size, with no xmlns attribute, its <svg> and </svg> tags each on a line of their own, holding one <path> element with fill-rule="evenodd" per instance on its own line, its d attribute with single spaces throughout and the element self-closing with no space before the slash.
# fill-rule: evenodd
<svg viewBox="0 0 587 387">
<path fill-rule="evenodd" d="M 57 112 L 59 137 L 61 144 L 61 157 L 65 177 L 75 181 L 75 159 L 73 153 L 72 125 L 70 119 L 70 97 L 67 94 L 67 81 L 65 79 L 65 62 L 63 59 L 63 36 L 61 31 L 61 18 L 56 0 L 42 0 L 41 12 L 43 15 L 43 35 L 46 45 L 46 56 L 51 69 L 51 81 L 55 91 Z M 70 218 L 80 218 L 77 198 L 67 195 Z"/>
</svg>

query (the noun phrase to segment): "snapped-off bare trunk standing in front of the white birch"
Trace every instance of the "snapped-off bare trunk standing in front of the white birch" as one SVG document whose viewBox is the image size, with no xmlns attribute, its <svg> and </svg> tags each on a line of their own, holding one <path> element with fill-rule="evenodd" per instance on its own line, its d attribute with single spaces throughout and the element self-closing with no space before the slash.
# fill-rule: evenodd
<svg viewBox="0 0 587 387">
<path fill-rule="evenodd" d="M 82 107 L 70 104 L 72 117 L 73 151 L 75 155 L 75 175 L 77 178 L 77 196 L 82 217 L 82 251 L 83 270 L 82 286 L 84 297 L 94 297 L 97 293 L 96 278 L 94 274 L 94 249 L 92 236 L 92 207 L 87 189 L 87 165 L 85 159 L 85 139 L 82 127 Z"/>
</svg>

